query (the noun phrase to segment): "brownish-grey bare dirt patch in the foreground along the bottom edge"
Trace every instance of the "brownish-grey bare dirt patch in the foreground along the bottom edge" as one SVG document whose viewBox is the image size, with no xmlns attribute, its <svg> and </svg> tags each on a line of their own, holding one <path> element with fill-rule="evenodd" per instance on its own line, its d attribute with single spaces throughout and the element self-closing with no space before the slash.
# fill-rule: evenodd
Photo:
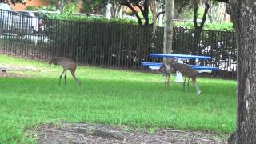
<svg viewBox="0 0 256 144">
<path fill-rule="evenodd" d="M 124 127 L 90 123 L 64 123 L 41 126 L 38 142 L 49 143 L 226 143 L 226 139 L 207 132 L 159 129 L 130 130 Z"/>
</svg>

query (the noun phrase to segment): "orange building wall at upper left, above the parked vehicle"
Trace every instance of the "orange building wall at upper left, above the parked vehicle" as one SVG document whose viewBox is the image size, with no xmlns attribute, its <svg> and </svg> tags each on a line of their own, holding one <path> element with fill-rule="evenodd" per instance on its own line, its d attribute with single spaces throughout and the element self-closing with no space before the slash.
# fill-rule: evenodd
<svg viewBox="0 0 256 144">
<path fill-rule="evenodd" d="M 26 5 L 22 5 L 22 4 L 16 4 L 14 5 L 10 5 L 14 10 L 25 10 L 26 6 L 49 6 L 50 2 L 48 2 L 47 0 L 27 0 L 26 1 Z"/>
</svg>

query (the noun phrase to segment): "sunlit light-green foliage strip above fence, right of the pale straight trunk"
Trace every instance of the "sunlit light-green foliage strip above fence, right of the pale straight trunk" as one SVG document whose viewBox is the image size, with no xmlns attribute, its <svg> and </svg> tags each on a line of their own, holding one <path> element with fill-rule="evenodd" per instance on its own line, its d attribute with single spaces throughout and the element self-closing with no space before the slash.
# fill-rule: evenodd
<svg viewBox="0 0 256 144">
<path fill-rule="evenodd" d="M 174 26 L 182 26 L 186 29 L 194 29 L 193 22 L 174 22 Z M 233 23 L 231 22 L 205 23 L 202 29 L 234 32 Z"/>
</svg>

